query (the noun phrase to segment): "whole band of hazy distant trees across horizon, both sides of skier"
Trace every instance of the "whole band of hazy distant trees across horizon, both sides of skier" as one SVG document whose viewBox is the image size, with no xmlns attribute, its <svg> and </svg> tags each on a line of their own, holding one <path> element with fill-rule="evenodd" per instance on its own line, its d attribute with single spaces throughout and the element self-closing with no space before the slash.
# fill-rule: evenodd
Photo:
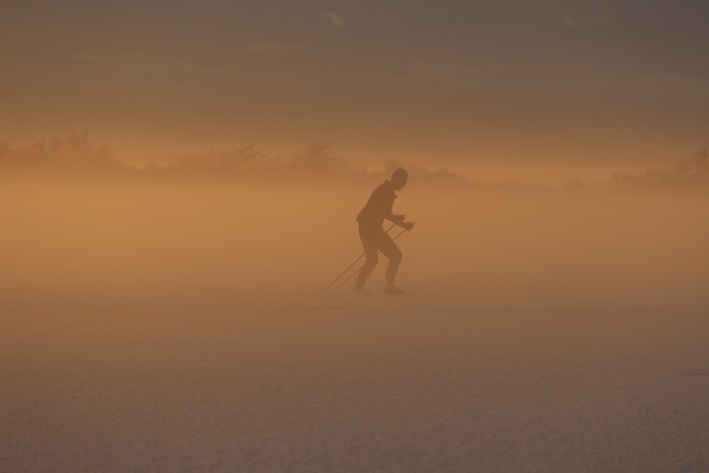
<svg viewBox="0 0 709 473">
<path fill-rule="evenodd" d="M 406 167 L 420 184 L 445 187 L 495 189 L 542 189 L 531 184 L 486 184 L 473 182 L 447 169 L 430 171 L 396 161 L 380 171 L 363 169 L 337 154 L 329 143 L 314 143 L 290 157 L 264 155 L 253 146 L 174 155 L 143 166 L 128 165 L 113 155 L 111 148 L 94 145 L 86 133 L 39 140 L 25 148 L 0 140 L 0 177 L 79 177 L 82 179 L 156 180 L 174 182 L 372 182 Z M 709 189 L 709 152 L 706 149 L 676 160 L 666 167 L 644 172 L 618 173 L 608 180 L 614 189 Z M 573 179 L 570 189 L 584 189 L 581 179 Z"/>
</svg>

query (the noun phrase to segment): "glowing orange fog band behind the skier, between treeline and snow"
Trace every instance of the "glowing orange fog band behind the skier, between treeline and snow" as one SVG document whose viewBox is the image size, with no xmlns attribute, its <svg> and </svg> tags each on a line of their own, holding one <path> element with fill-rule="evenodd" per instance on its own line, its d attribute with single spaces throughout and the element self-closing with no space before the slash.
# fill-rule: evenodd
<svg viewBox="0 0 709 473">
<path fill-rule="evenodd" d="M 354 218 L 380 182 L 6 182 L 0 289 L 317 293 L 361 253 Z M 397 283 L 504 306 L 706 307 L 708 200 L 411 179 Z"/>
</svg>

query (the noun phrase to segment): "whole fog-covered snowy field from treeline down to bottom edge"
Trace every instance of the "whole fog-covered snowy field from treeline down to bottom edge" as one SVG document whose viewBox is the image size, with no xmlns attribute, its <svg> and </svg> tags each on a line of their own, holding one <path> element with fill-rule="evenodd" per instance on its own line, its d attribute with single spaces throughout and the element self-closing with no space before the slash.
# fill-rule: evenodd
<svg viewBox="0 0 709 473">
<path fill-rule="evenodd" d="M 705 193 L 378 183 L 4 182 L 0 472 L 709 471 Z"/>
</svg>

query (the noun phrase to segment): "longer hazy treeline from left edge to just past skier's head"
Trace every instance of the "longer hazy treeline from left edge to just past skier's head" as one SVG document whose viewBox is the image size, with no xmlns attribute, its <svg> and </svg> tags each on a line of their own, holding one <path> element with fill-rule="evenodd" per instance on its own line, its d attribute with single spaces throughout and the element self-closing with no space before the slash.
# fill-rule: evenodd
<svg viewBox="0 0 709 473">
<path fill-rule="evenodd" d="M 127 165 L 111 148 L 93 145 L 86 133 L 39 140 L 26 148 L 0 141 L 0 173 L 36 176 L 103 177 L 169 180 L 275 180 L 302 182 L 357 181 L 388 174 L 399 164 L 389 161 L 382 172 L 351 165 L 330 144 L 315 143 L 291 157 L 269 157 L 253 146 L 203 154 L 174 155 L 160 163 Z M 458 174 L 439 169 L 431 172 L 407 166 L 417 180 L 445 184 L 471 184 Z"/>
</svg>

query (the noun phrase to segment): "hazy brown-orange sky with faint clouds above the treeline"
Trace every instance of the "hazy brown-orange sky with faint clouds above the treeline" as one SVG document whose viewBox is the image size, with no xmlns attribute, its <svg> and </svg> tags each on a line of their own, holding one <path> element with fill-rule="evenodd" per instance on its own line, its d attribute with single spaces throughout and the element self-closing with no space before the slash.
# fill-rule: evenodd
<svg viewBox="0 0 709 473">
<path fill-rule="evenodd" d="M 0 0 L 0 136 L 144 155 L 709 145 L 706 1 Z"/>
</svg>

